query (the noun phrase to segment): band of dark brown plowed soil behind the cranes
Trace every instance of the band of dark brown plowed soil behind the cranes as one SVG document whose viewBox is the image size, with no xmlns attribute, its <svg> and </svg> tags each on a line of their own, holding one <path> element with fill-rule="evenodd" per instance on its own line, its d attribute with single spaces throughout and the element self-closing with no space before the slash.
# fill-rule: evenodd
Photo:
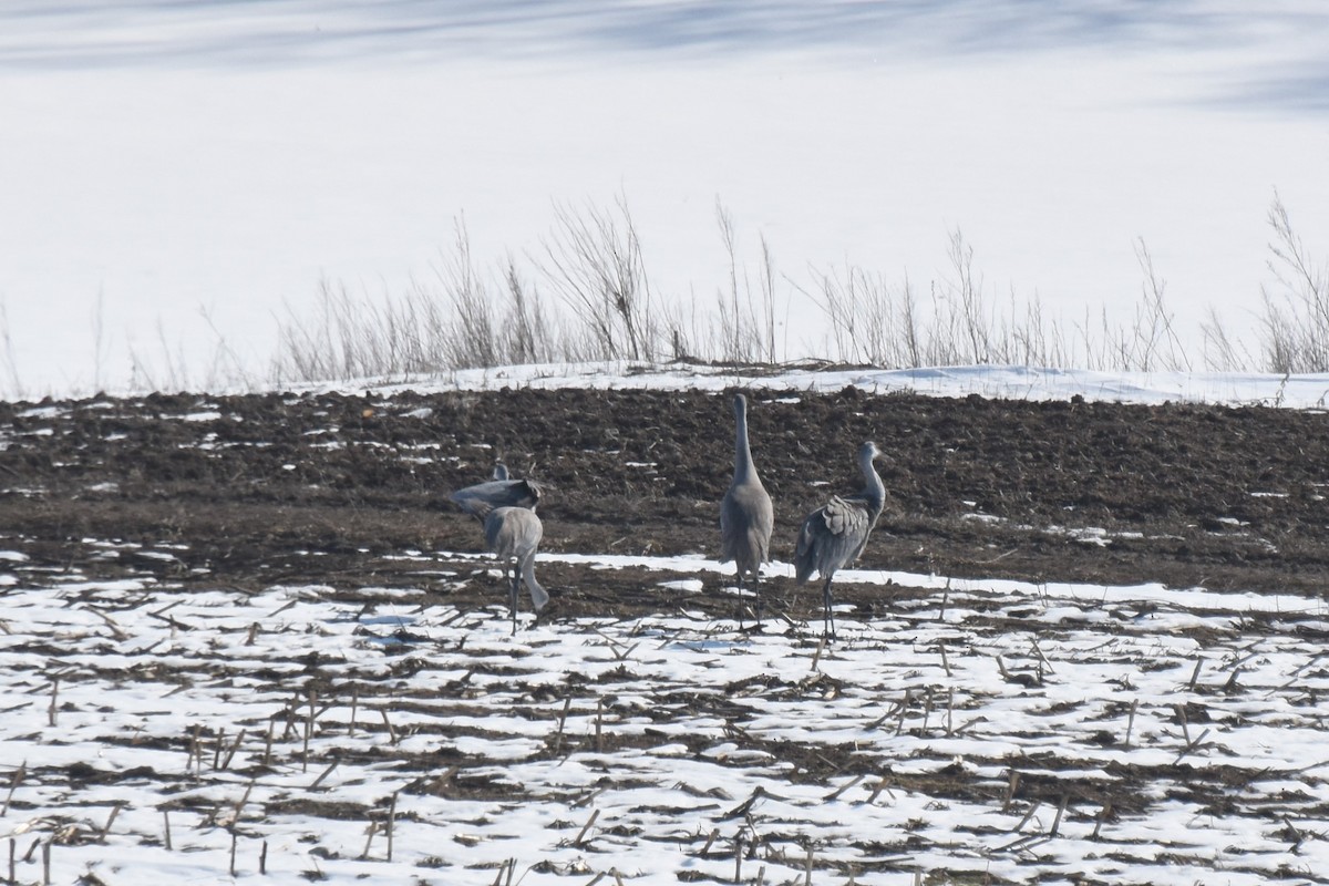
<svg viewBox="0 0 1329 886">
<path fill-rule="evenodd" d="M 865 569 L 1264 591 L 1329 575 L 1322 413 L 849 388 L 758 395 L 750 424 L 777 559 L 804 514 L 861 486 L 853 453 L 870 438 L 888 503 Z M 0 434 L 8 545 L 98 575 L 117 563 L 94 539 L 178 542 L 174 579 L 242 588 L 391 584 L 364 554 L 480 550 L 448 493 L 496 458 L 545 484 L 545 551 L 714 558 L 734 445 L 730 399 L 686 391 L 0 404 Z M 310 550 L 322 575 L 292 558 Z M 561 614 L 659 606 L 630 574 L 540 571 Z M 815 594 L 771 584 L 791 615 L 815 615 Z M 837 599 L 870 612 L 878 596 L 847 586 Z"/>
</svg>

